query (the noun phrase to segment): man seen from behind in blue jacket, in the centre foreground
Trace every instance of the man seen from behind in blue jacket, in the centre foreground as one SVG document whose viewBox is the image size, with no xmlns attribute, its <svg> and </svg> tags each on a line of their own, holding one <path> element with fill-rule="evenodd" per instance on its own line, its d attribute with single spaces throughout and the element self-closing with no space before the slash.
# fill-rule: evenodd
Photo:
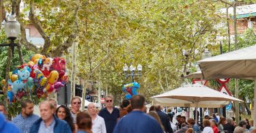
<svg viewBox="0 0 256 133">
<path fill-rule="evenodd" d="M 130 104 L 132 112 L 120 119 L 115 126 L 114 133 L 163 132 L 160 124 L 153 117 L 143 112 L 145 108 L 145 98 L 143 95 L 133 95 Z"/>
</svg>

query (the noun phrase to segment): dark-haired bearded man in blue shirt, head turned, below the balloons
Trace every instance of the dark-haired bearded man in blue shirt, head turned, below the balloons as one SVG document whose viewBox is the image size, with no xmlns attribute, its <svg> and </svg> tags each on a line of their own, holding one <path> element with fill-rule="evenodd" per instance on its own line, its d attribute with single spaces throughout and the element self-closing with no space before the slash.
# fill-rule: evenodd
<svg viewBox="0 0 256 133">
<path fill-rule="evenodd" d="M 21 113 L 17 115 L 12 123 L 20 129 L 21 132 L 28 133 L 33 123 L 40 117 L 33 114 L 33 102 L 29 99 L 21 102 Z"/>
</svg>

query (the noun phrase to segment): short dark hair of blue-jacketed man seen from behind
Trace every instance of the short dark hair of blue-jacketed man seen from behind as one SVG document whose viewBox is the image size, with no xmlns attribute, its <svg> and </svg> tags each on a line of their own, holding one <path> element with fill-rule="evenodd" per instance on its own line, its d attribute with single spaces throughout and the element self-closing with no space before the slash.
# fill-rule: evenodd
<svg viewBox="0 0 256 133">
<path fill-rule="evenodd" d="M 133 109 L 141 109 L 145 104 L 145 98 L 143 95 L 132 95 L 130 99 L 130 105 Z"/>
</svg>

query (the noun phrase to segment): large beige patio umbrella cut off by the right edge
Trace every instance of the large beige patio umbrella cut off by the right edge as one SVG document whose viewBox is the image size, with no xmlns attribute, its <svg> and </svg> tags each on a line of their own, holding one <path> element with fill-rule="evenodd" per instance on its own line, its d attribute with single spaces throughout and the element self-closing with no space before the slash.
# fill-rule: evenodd
<svg viewBox="0 0 256 133">
<path fill-rule="evenodd" d="M 203 78 L 253 78 L 256 77 L 256 45 L 234 50 L 230 53 L 217 55 L 197 61 Z M 256 80 L 255 80 L 256 83 Z M 254 89 L 254 108 L 256 108 L 256 85 Z M 256 109 L 253 110 L 256 118 Z M 254 127 L 256 119 L 254 119 Z"/>
</svg>

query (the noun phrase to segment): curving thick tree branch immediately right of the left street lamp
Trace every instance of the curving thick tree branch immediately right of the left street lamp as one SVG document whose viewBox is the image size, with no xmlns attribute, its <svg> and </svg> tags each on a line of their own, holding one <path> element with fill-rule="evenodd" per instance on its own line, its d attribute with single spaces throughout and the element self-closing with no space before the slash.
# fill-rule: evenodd
<svg viewBox="0 0 256 133">
<path fill-rule="evenodd" d="M 26 35 L 26 31 L 25 31 L 25 24 L 23 23 L 23 18 L 20 17 L 20 1 L 21 0 L 17 0 L 16 1 L 16 10 L 15 10 L 15 14 L 16 14 L 16 18 L 18 20 L 18 22 L 20 23 L 20 33 L 21 33 L 21 38 L 20 38 L 20 43 L 23 44 L 25 46 L 25 48 L 29 49 L 29 50 L 33 50 L 33 52 L 38 53 L 38 48 L 31 44 L 30 42 L 27 41 L 27 35 Z"/>
</svg>

